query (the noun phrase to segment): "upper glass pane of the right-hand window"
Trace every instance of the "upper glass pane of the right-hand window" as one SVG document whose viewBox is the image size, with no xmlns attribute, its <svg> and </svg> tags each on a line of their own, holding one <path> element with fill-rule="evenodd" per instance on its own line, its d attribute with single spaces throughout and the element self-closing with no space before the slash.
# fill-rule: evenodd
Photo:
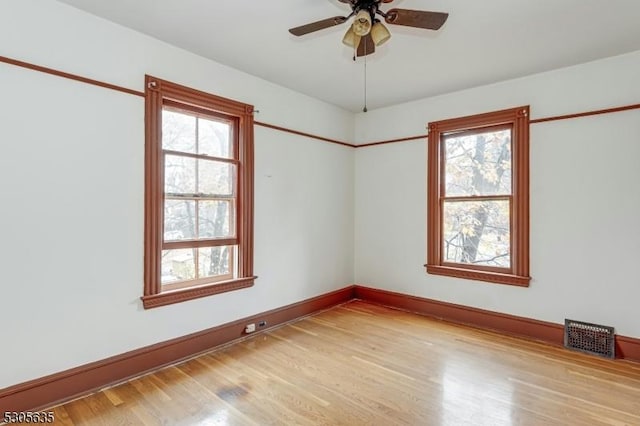
<svg viewBox="0 0 640 426">
<path fill-rule="evenodd" d="M 511 130 L 444 138 L 445 196 L 511 194 Z"/>
</svg>

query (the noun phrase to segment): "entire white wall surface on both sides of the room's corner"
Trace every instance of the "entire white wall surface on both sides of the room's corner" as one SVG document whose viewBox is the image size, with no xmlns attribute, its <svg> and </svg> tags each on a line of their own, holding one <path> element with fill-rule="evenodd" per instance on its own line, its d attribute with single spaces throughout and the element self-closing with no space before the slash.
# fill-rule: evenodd
<svg viewBox="0 0 640 426">
<path fill-rule="evenodd" d="M 515 105 L 536 118 L 640 99 L 638 52 L 359 114 L 354 125 L 349 112 L 38 0 L 2 2 L 0 55 L 139 91 L 147 73 L 344 141 L 424 134 L 428 121 Z M 145 311 L 142 98 L 6 64 L 0 96 L 0 388 L 354 281 L 640 336 L 640 111 L 532 126 L 529 288 L 425 274 L 424 141 L 354 152 L 256 127 L 256 285 Z"/>
</svg>

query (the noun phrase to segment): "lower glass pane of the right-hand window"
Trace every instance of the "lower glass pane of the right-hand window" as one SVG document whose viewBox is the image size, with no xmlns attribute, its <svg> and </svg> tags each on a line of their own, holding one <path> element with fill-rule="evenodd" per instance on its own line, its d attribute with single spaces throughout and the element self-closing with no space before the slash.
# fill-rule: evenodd
<svg viewBox="0 0 640 426">
<path fill-rule="evenodd" d="M 442 260 L 511 267 L 509 201 L 444 203 Z"/>
</svg>

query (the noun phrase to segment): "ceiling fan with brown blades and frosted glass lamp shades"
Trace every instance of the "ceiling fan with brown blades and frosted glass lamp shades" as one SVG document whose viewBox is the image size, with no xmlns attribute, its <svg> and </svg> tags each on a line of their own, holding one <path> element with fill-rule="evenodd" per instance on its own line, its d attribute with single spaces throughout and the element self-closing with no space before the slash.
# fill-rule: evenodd
<svg viewBox="0 0 640 426">
<path fill-rule="evenodd" d="M 389 30 L 380 22 L 376 15 L 384 18 L 387 24 L 404 25 L 407 27 L 438 30 L 449 17 L 448 13 L 428 12 L 424 10 L 390 9 L 387 12 L 380 10 L 380 3 L 391 3 L 393 0 L 339 0 L 351 6 L 351 13 L 347 16 L 334 16 L 333 18 L 311 22 L 291 28 L 289 32 L 295 36 L 302 36 L 325 28 L 340 25 L 355 16 L 353 24 L 347 30 L 342 42 L 356 49 L 357 56 L 370 55 L 376 50 L 376 46 L 389 40 Z"/>
</svg>

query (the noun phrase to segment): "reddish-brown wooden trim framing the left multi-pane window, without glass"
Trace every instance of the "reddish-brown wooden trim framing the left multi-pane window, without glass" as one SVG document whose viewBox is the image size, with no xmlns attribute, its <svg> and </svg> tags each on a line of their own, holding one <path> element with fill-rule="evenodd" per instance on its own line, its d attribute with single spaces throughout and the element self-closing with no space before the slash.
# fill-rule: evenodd
<svg viewBox="0 0 640 426">
<path fill-rule="evenodd" d="M 213 116 L 233 117 L 237 122 L 234 155 L 238 163 L 237 234 L 238 277 L 185 289 L 161 291 L 161 253 L 163 245 L 164 170 L 162 168 L 162 109 L 182 106 L 185 110 Z M 253 285 L 253 106 L 209 93 L 145 76 L 145 309 L 237 290 Z M 221 240 L 219 243 L 226 241 Z M 217 245 L 217 244 L 216 244 Z"/>
</svg>

